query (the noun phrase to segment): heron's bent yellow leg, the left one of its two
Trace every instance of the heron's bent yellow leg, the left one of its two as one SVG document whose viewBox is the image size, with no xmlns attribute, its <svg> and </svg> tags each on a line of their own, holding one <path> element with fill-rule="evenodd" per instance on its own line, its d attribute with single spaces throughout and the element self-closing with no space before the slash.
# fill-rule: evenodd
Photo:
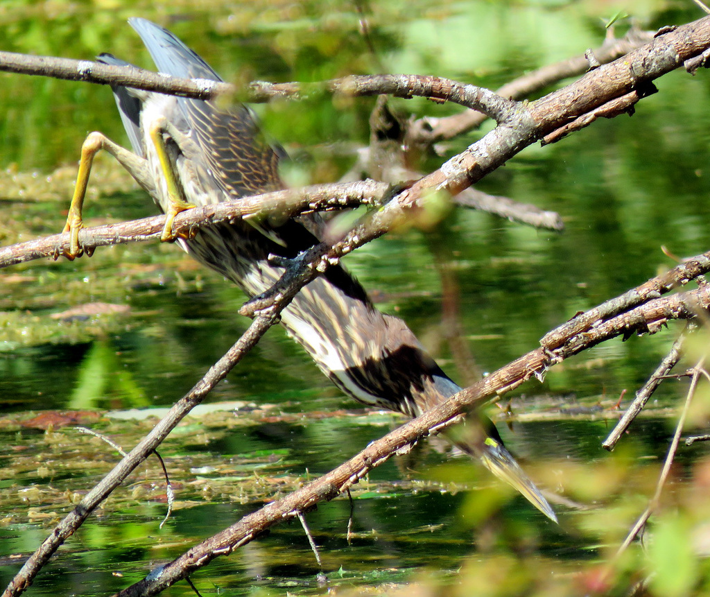
<svg viewBox="0 0 710 597">
<path fill-rule="evenodd" d="M 102 133 L 97 131 L 89 133 L 89 136 L 87 136 L 82 144 L 79 173 L 77 174 L 77 182 L 74 187 L 72 202 L 69 206 L 69 214 L 67 214 L 67 223 L 63 230 L 71 234 L 69 250 L 62 251 L 62 254 L 70 260 L 80 257 L 84 253 L 84 248 L 80 246 L 79 243 L 79 231 L 82 229 L 82 226 L 84 226 L 82 219 L 84 197 L 86 196 L 87 186 L 89 184 L 89 173 L 94 163 L 94 155 L 102 149 L 113 155 L 114 158 L 128 170 L 129 174 L 136 179 L 138 184 L 148 190 L 148 192 L 150 192 L 152 187 L 148 177 L 147 160 L 119 146 Z"/>
</svg>

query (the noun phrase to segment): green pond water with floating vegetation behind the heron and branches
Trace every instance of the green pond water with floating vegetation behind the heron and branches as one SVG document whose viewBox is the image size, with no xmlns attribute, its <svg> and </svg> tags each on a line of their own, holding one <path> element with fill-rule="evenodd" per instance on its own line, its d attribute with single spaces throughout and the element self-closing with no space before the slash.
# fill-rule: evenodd
<svg viewBox="0 0 710 597">
<path fill-rule="evenodd" d="M 373 3 L 373 5 L 376 3 Z M 110 51 L 150 65 L 125 20 L 165 24 L 229 81 L 324 80 L 417 72 L 496 87 L 601 43 L 608 6 L 567 3 L 278 1 L 214 4 L 9 4 L 0 49 L 89 59 Z M 646 28 L 700 15 L 639 1 Z M 608 11 L 604 12 L 604 11 Z M 621 30 L 628 19 L 621 19 Z M 127 143 L 109 89 L 1 75 L 0 243 L 60 231 L 81 143 L 101 130 Z M 710 76 L 674 72 L 633 118 L 598 121 L 561 143 L 532 146 L 479 188 L 558 212 L 564 232 L 452 209 L 430 230 L 409 229 L 359 249 L 345 265 L 379 309 L 405 319 L 462 385 L 539 345 L 576 312 L 710 249 Z M 549 91 L 547 89 L 546 91 Z M 317 97 L 258 106 L 292 160 L 292 184 L 332 182 L 368 142 L 373 99 Z M 417 116 L 456 106 L 393 102 Z M 484 131 L 447 143 L 454 155 Z M 427 158 L 422 170 L 442 158 Z M 99 155 L 87 224 L 155 213 L 131 178 Z M 661 247 L 667 248 L 668 256 Z M 131 449 L 244 332 L 244 295 L 178 246 L 139 243 L 92 258 L 0 270 L 0 586 L 119 460 L 87 427 Z M 442 305 L 449 305 L 444 312 Z M 454 305 L 453 309 L 451 305 Z M 452 341 L 452 316 L 461 335 Z M 591 591 L 595 571 L 643 512 L 667 451 L 687 381 L 669 380 L 616 451 L 601 442 L 682 327 L 608 341 L 503 398 L 491 416 L 535 481 L 559 496 L 559 525 L 478 464 L 432 439 L 397 456 L 346 496 L 309 513 L 327 585 L 300 524 L 193 576 L 204 594 L 386 593 L 481 595 Z M 699 335 L 700 336 L 700 335 Z M 707 344 L 700 336 L 698 346 Z M 461 348 L 463 347 L 463 348 Z M 697 346 L 679 371 L 697 361 Z M 623 393 L 626 391 L 626 394 Z M 709 416 L 704 395 L 692 425 Z M 158 461 L 141 466 L 97 510 L 28 594 L 118 591 L 260 505 L 329 471 L 404 418 L 344 397 L 276 327 L 160 448 L 176 492 L 166 513 Z M 689 431 L 690 432 L 690 431 Z M 620 586 L 655 569 L 653 594 L 703 593 L 707 574 L 708 448 L 682 447 L 648 550 L 620 564 Z M 680 541 L 678 537 L 687 537 Z M 663 541 L 662 541 L 663 540 Z M 678 542 L 678 543 L 676 543 Z M 668 552 L 672 549 L 675 559 Z M 654 545 L 656 547 L 654 547 Z M 682 556 L 682 558 L 681 558 Z M 680 561 L 679 561 L 680 559 Z M 664 585 L 677 566 L 677 586 Z M 657 565 L 657 566 L 656 566 Z M 653 566 L 656 566 L 653 568 Z M 682 566 L 690 566 L 680 574 Z M 688 580 L 689 579 L 689 580 Z M 685 584 L 683 584 L 685 583 Z M 190 594 L 187 584 L 170 594 Z M 620 594 L 626 594 L 626 590 Z"/>
</svg>

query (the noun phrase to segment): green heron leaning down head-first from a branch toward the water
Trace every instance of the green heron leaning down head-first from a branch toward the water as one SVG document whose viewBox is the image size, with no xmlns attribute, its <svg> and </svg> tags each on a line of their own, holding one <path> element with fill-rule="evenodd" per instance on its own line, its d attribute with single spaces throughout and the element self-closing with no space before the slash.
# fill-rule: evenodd
<svg viewBox="0 0 710 597">
<path fill-rule="evenodd" d="M 160 26 L 142 18 L 129 23 L 141 36 L 160 72 L 222 81 L 200 56 Z M 127 62 L 103 54 L 107 64 Z M 93 155 L 108 150 L 168 214 L 163 239 L 171 239 L 172 217 L 182 209 L 283 188 L 278 177 L 282 150 L 263 138 L 256 116 L 244 105 L 225 109 L 215 102 L 114 87 L 133 152 L 91 133 L 82 147 L 77 188 L 66 229 L 72 255 L 81 252 L 78 229 Z M 269 256 L 295 258 L 317 239 L 295 219 L 273 225 L 217 224 L 190 239 L 178 239 L 197 261 L 241 287 L 251 297 L 268 290 L 283 273 Z M 406 324 L 379 312 L 363 287 L 339 265 L 312 280 L 282 313 L 288 334 L 341 390 L 366 405 L 416 417 L 461 388 L 427 354 Z M 454 444 L 479 457 L 497 476 L 525 495 L 552 520 L 547 500 L 503 446 L 493 422 L 469 415 Z"/>
</svg>

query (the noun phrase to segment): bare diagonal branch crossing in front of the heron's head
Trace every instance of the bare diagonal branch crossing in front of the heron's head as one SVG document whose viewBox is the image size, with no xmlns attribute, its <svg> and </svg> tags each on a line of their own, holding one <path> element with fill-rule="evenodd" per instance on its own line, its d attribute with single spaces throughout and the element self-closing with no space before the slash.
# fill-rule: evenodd
<svg viewBox="0 0 710 597">
<path fill-rule="evenodd" d="M 621 334 L 646 333 L 658 329 L 668 319 L 693 319 L 698 312 L 710 309 L 710 290 L 700 287 L 691 292 L 650 300 L 631 312 L 619 312 L 604 327 L 594 329 L 584 337 L 569 336 L 553 352 L 535 349 L 508 363 L 498 371 L 461 390 L 441 405 L 372 442 L 359 454 L 324 476 L 312 481 L 280 500 L 246 515 L 231 527 L 191 547 L 165 566 L 151 571 L 145 579 L 118 593 L 118 597 L 151 596 L 185 579 L 206 566 L 212 559 L 231 554 L 251 542 L 274 525 L 310 510 L 318 503 L 329 501 L 363 478 L 375 466 L 389 459 L 396 451 L 429 434 L 452 425 L 459 415 L 517 388 L 532 376 L 540 378 L 550 366 L 578 354 L 595 344 Z"/>
</svg>

